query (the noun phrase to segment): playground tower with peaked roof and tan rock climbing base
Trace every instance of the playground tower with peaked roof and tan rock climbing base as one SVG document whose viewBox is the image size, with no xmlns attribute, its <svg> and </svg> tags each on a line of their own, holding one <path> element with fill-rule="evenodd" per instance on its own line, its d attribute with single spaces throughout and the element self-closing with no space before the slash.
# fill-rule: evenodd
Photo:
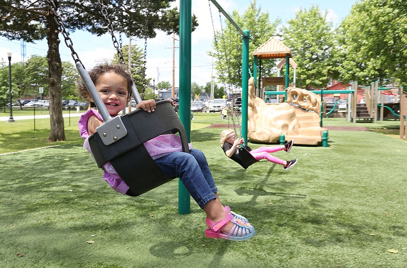
<svg viewBox="0 0 407 268">
<path fill-rule="evenodd" d="M 297 64 L 292 59 L 291 50 L 276 37 L 271 37 L 252 52 L 254 56 L 253 76 L 249 79 L 248 138 L 252 142 L 276 143 L 281 136 L 285 140 L 295 139 L 296 144 L 318 145 L 323 141 L 326 128 L 322 127 L 321 97 L 313 92 L 296 88 Z M 281 59 L 277 63 L 277 77 L 261 77 L 261 61 Z M 285 76 L 280 76 L 285 64 Z M 294 82 L 289 83 L 289 66 L 294 69 Z M 257 78 L 257 73 L 259 78 Z M 257 87 L 255 85 L 257 81 Z M 277 91 L 265 91 L 269 85 L 277 86 Z M 290 85 L 294 87 L 289 87 Z M 257 92 L 256 92 L 257 89 Z M 285 89 L 285 90 L 284 90 Z M 273 98 L 274 103 L 264 99 Z M 256 97 L 257 96 L 257 97 Z M 280 96 L 283 96 L 280 98 Z M 243 97 L 243 96 L 242 96 Z"/>
</svg>

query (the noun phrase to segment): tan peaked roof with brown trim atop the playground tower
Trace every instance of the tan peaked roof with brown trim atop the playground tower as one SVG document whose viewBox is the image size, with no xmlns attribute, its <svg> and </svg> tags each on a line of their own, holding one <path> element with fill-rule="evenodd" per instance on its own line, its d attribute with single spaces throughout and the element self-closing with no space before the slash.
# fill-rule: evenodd
<svg viewBox="0 0 407 268">
<path fill-rule="evenodd" d="M 271 37 L 263 45 L 260 45 L 253 51 L 252 55 L 257 56 L 259 59 L 282 59 L 289 54 L 292 58 L 291 49 L 281 43 L 276 37 Z"/>
</svg>

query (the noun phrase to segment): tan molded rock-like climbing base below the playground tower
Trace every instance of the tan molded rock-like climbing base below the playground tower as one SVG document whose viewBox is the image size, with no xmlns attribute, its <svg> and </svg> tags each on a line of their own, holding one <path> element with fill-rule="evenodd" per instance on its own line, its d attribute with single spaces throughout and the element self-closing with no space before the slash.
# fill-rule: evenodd
<svg viewBox="0 0 407 268">
<path fill-rule="evenodd" d="M 321 97 L 289 87 L 287 101 L 266 103 L 256 97 L 254 78 L 249 79 L 248 138 L 252 142 L 278 143 L 295 139 L 296 144 L 317 145 L 326 128 L 320 127 Z"/>
</svg>

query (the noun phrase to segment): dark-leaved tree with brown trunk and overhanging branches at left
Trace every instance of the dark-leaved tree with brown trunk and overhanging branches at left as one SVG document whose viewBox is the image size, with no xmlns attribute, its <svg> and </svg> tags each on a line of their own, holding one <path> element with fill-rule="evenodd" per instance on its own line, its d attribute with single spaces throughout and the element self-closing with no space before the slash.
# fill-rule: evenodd
<svg viewBox="0 0 407 268">
<path fill-rule="evenodd" d="M 99 1 L 99 0 L 98 0 Z M 155 37 L 156 29 L 168 34 L 178 33 L 176 9 L 170 9 L 174 0 L 103 0 L 111 26 L 127 36 Z M 64 141 L 61 79 L 62 63 L 59 51 L 59 25 L 47 4 L 48 1 L 2 0 L 0 5 L 0 36 L 11 40 L 48 41 L 48 89 L 50 100 L 49 142 Z M 107 32 L 100 6 L 95 0 L 54 0 L 56 11 L 67 30 L 85 30 L 102 35 Z M 195 21 L 196 25 L 196 21 Z"/>
</svg>

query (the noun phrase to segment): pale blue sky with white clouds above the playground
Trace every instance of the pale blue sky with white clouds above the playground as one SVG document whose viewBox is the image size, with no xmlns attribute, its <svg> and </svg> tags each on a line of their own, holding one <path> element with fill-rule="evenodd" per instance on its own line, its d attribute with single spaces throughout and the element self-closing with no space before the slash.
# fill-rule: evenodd
<svg viewBox="0 0 407 268">
<path fill-rule="evenodd" d="M 294 18 L 295 13 L 300 10 L 300 8 L 309 9 L 312 5 L 317 5 L 321 11 L 327 11 L 328 18 L 334 25 L 337 25 L 350 13 L 352 5 L 354 5 L 356 1 L 357 0 L 257 0 L 256 7 L 260 7 L 263 12 L 268 12 L 270 21 L 280 18 L 284 23 Z M 243 14 L 250 5 L 250 1 L 248 0 L 218 0 L 217 2 L 228 14 L 231 14 L 233 10 L 238 10 L 239 14 Z M 282 4 L 284 6 L 281 6 Z M 175 5 L 179 6 L 179 0 L 175 2 Z M 219 13 L 212 4 L 211 9 L 215 28 L 216 30 L 220 30 Z M 213 38 L 213 27 L 208 1 L 192 0 L 192 12 L 197 15 L 199 26 L 198 29 L 192 33 L 191 82 L 196 82 L 203 86 L 211 81 L 212 75 L 212 58 L 207 55 L 207 52 L 211 50 Z M 222 19 L 224 20 L 224 18 Z M 99 63 L 109 61 L 115 54 L 115 48 L 108 34 L 97 37 L 89 33 L 77 31 L 71 33 L 70 36 L 73 40 L 75 51 L 88 70 Z M 119 35 L 116 34 L 116 37 L 119 38 Z M 60 35 L 60 38 L 63 38 L 62 35 Z M 122 39 L 124 44 L 128 44 L 129 39 L 126 36 L 123 35 Z M 144 47 L 144 40 L 132 40 L 132 44 L 134 43 L 140 47 Z M 4 37 L 0 37 L 0 61 L 3 58 L 3 60 L 7 62 L 8 51 L 13 53 L 12 62 L 21 61 L 20 44 L 20 40 L 7 40 Z M 25 46 L 26 59 L 31 55 L 46 56 L 47 54 L 48 46 L 46 40 L 38 41 L 35 44 L 25 43 Z M 176 47 L 177 46 L 179 46 L 178 41 L 176 41 Z M 60 44 L 60 52 L 63 61 L 73 63 L 70 50 L 66 47 L 64 42 Z M 178 87 L 178 48 L 176 48 L 175 51 L 175 66 L 175 86 Z M 172 84 L 172 36 L 167 36 L 159 32 L 156 38 L 148 40 L 147 77 L 154 78 L 156 85 L 161 81 L 168 81 Z"/>
</svg>

